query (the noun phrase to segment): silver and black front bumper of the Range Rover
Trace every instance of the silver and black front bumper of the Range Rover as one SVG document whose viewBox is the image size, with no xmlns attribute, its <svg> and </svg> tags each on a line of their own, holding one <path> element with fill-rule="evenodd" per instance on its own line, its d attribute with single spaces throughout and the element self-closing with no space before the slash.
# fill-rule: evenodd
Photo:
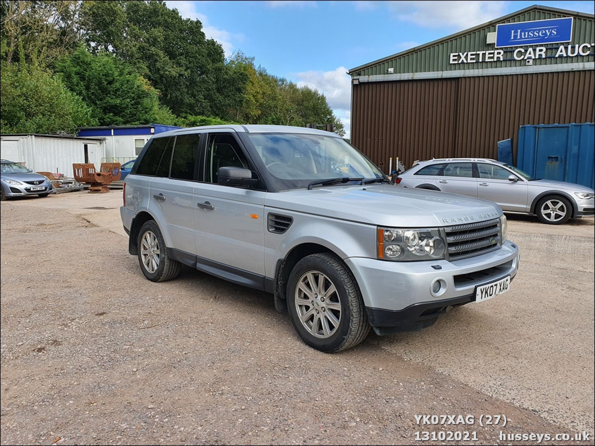
<svg viewBox="0 0 595 446">
<path fill-rule="evenodd" d="M 474 301 L 477 286 L 506 276 L 512 279 L 518 270 L 519 252 L 518 246 L 506 241 L 496 251 L 452 262 L 389 262 L 362 257 L 345 262 L 358 281 L 370 324 L 378 334 L 386 334 L 428 327 L 447 307 Z M 445 284 L 439 295 L 431 292 L 435 280 Z"/>
</svg>

